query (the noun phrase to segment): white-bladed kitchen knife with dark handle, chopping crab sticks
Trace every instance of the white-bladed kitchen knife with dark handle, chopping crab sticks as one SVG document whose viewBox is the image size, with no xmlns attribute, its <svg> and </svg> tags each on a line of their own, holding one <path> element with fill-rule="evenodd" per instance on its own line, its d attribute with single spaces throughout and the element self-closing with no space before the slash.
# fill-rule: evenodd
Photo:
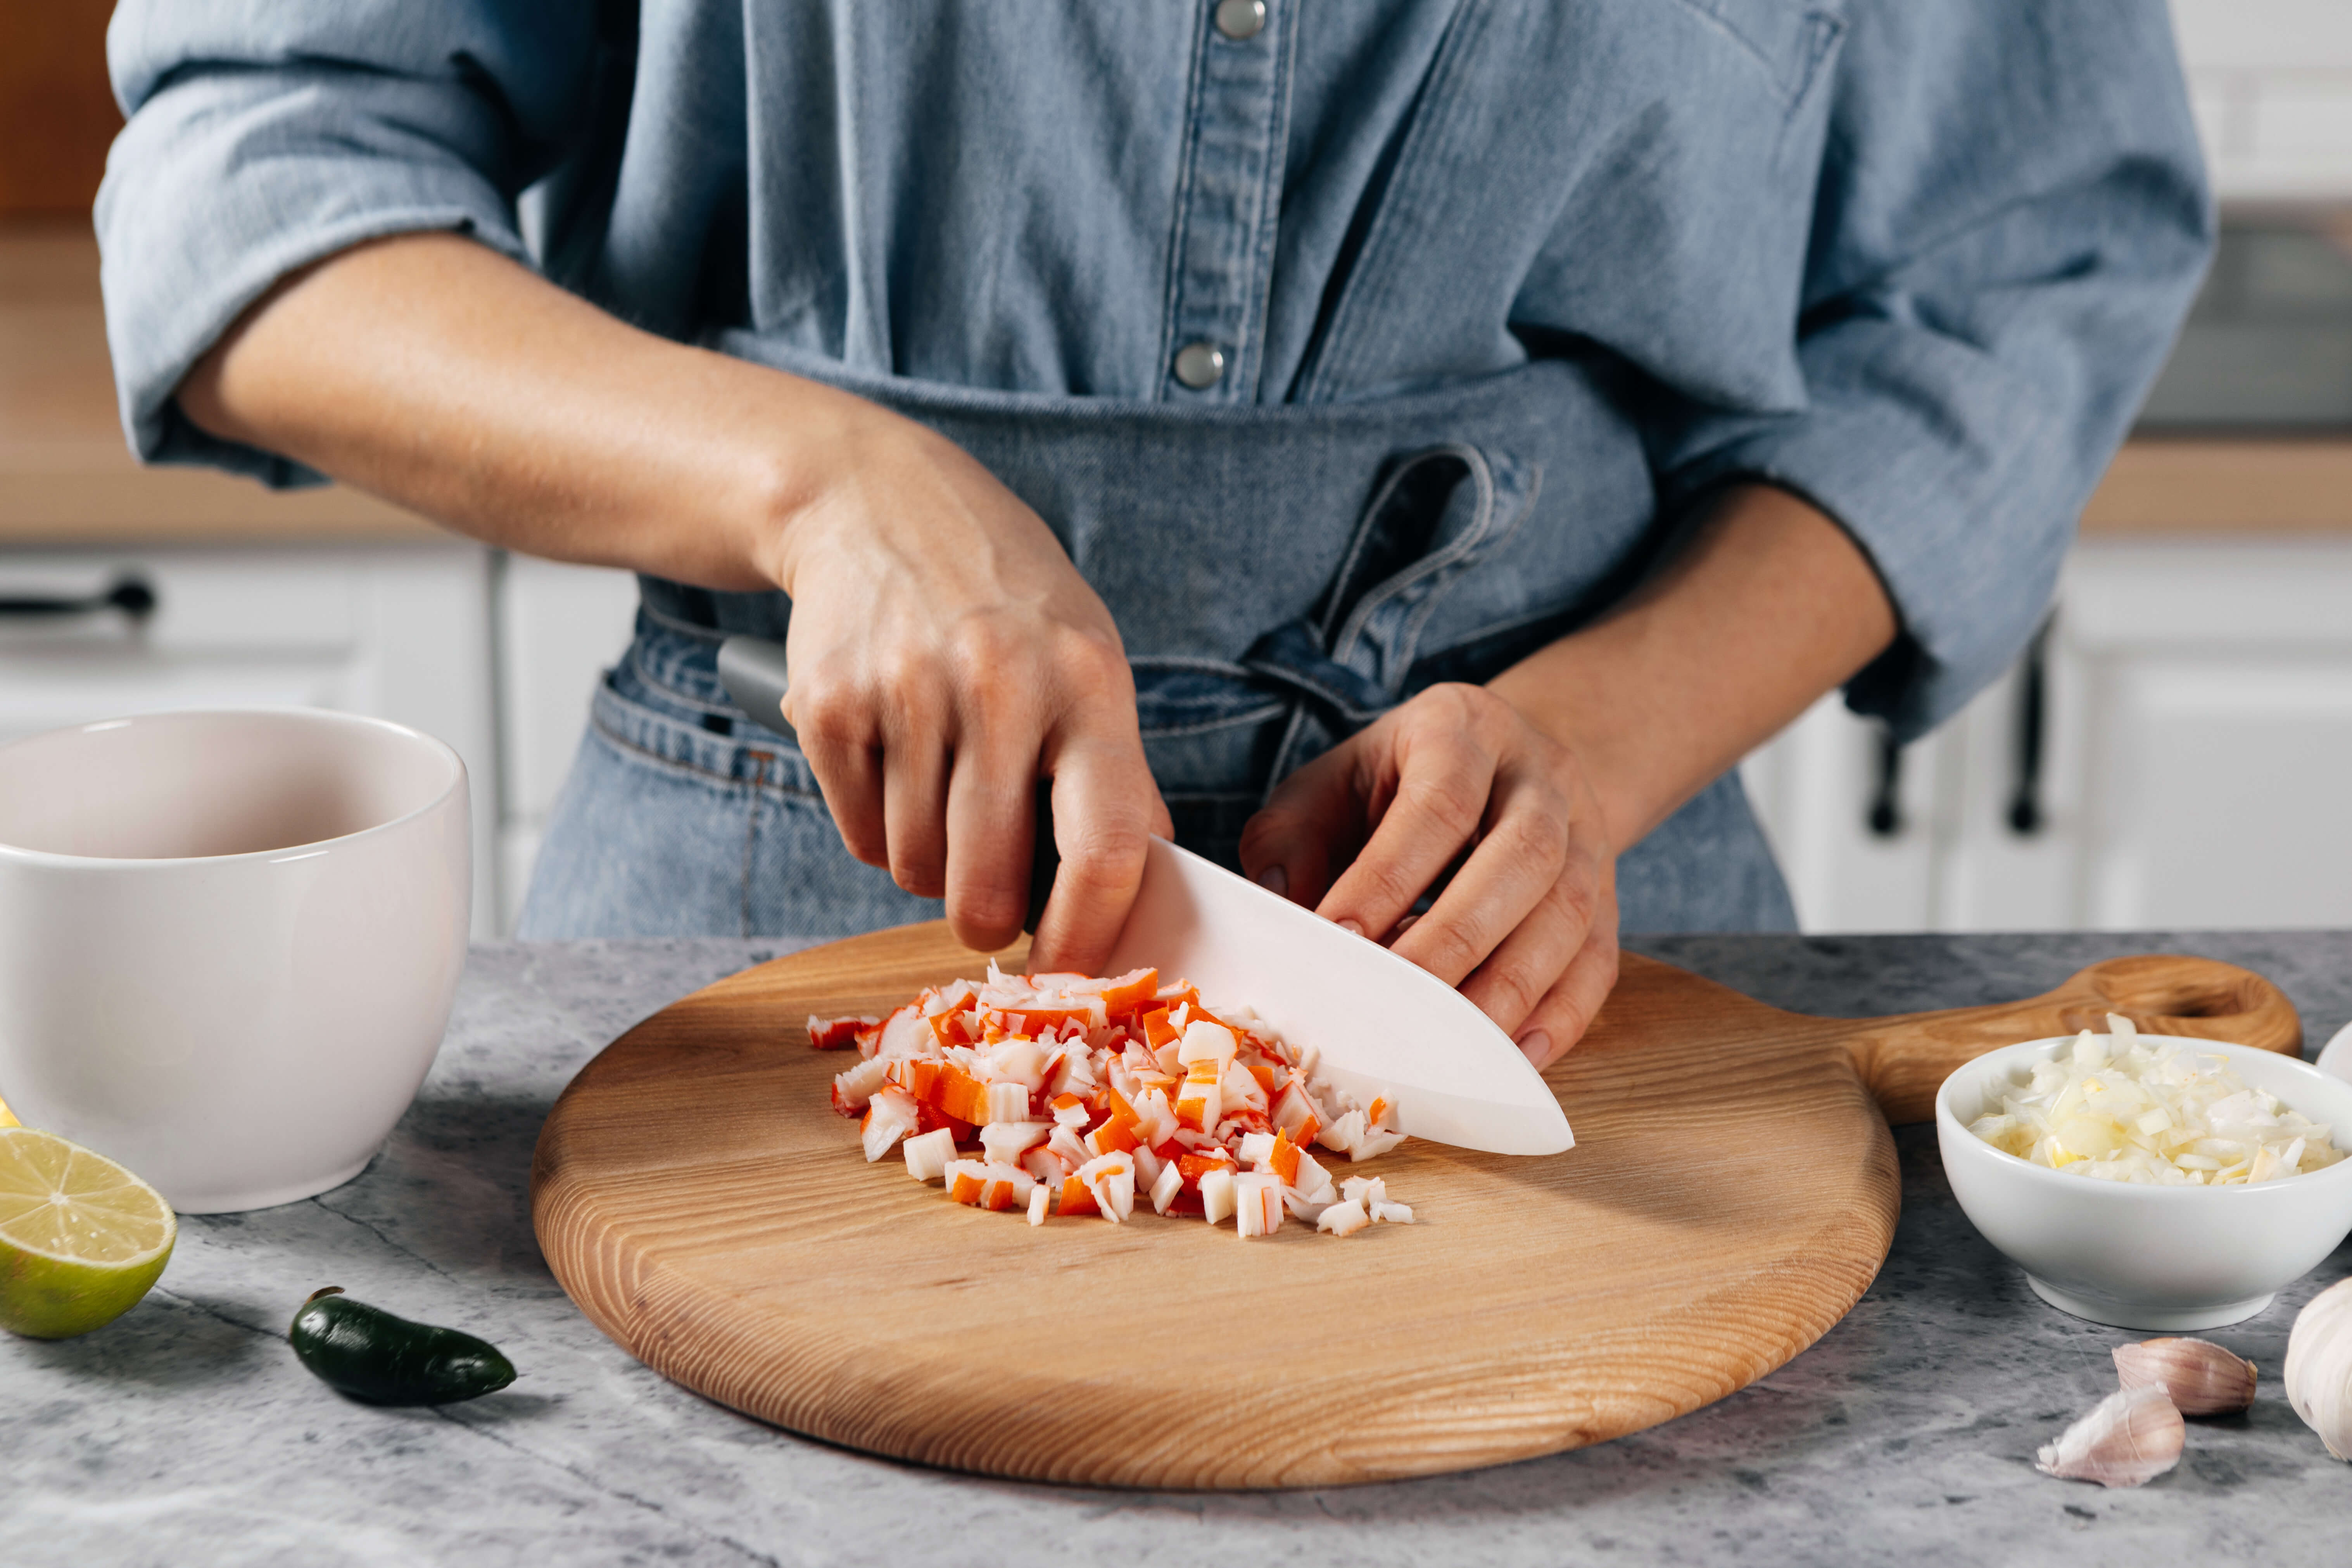
<svg viewBox="0 0 2352 1568">
<path fill-rule="evenodd" d="M 783 722 L 783 649 L 757 637 L 720 644 L 720 679 L 743 712 Z M 1054 823 L 1040 792 L 1030 929 L 1054 879 Z M 1157 969 L 1190 980 L 1209 1006 L 1249 1006 L 1294 1048 L 1315 1046 L 1319 1077 L 1359 1105 L 1397 1107 L 1397 1126 L 1491 1154 L 1559 1154 L 1576 1145 L 1559 1098 L 1458 990 L 1312 910 L 1152 839 L 1143 889 L 1108 973 Z"/>
</svg>

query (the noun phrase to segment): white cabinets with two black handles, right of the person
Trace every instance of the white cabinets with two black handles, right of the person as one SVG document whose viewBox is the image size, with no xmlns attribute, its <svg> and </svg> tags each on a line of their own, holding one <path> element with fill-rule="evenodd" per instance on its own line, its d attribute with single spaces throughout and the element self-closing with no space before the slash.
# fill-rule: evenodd
<svg viewBox="0 0 2352 1568">
<path fill-rule="evenodd" d="M 1748 759 L 1809 931 L 2352 926 L 2352 541 L 2091 541 L 2044 682 L 2030 832 L 2018 672 L 1907 750 L 1891 837 L 1835 698 Z"/>
</svg>

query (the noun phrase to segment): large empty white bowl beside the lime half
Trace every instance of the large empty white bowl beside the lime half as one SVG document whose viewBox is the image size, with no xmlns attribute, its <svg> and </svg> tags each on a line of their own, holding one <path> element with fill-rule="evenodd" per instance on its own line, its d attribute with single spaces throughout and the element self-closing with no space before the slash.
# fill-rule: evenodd
<svg viewBox="0 0 2352 1568">
<path fill-rule="evenodd" d="M 0 745 L 0 1098 L 183 1213 L 350 1180 L 466 966 L 466 764 L 315 710 Z"/>
</svg>

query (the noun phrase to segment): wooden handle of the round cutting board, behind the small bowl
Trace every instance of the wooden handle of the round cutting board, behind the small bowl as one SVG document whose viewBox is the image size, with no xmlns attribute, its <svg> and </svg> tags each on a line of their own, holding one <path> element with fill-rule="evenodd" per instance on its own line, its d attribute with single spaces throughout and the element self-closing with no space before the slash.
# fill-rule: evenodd
<svg viewBox="0 0 2352 1568">
<path fill-rule="evenodd" d="M 1870 1018 L 1849 1044 L 1886 1121 L 1900 1126 L 1931 1121 L 1943 1081 L 1985 1051 L 2105 1032 L 2107 1013 L 2122 1013 L 2145 1034 L 2303 1053 L 2303 1020 L 2286 992 L 2251 969 L 2171 952 L 2091 964 L 2027 1001 Z"/>
</svg>

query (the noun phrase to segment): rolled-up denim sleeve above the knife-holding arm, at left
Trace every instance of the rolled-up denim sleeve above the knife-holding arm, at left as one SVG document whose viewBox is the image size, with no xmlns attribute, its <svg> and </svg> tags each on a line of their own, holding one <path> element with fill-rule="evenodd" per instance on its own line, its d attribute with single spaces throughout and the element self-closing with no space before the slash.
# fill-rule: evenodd
<svg viewBox="0 0 2352 1568">
<path fill-rule="evenodd" d="M 515 195 L 572 136 L 593 42 L 586 2 L 125 0 L 96 226 L 136 454 L 315 480 L 188 423 L 181 378 L 273 282 L 362 240 L 445 228 L 524 259 Z"/>
</svg>

